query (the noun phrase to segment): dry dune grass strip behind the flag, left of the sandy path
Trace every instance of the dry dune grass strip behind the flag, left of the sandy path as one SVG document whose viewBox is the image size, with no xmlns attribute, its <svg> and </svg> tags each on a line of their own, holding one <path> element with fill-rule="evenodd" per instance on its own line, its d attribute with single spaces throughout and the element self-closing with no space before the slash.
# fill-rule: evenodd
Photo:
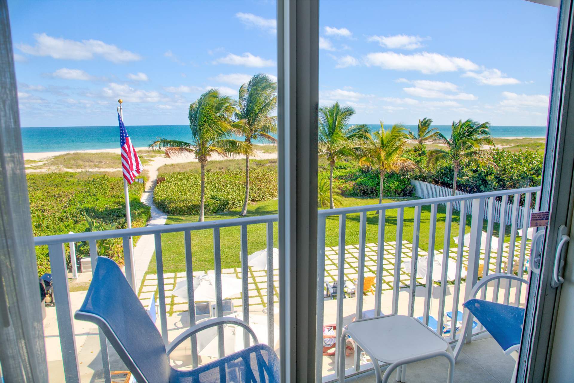
<svg viewBox="0 0 574 383">
<path fill-rule="evenodd" d="M 149 163 L 146 157 L 140 157 L 142 164 Z M 46 161 L 26 160 L 26 169 L 112 169 L 122 167 L 122 157 L 116 153 L 65 153 Z"/>
</svg>

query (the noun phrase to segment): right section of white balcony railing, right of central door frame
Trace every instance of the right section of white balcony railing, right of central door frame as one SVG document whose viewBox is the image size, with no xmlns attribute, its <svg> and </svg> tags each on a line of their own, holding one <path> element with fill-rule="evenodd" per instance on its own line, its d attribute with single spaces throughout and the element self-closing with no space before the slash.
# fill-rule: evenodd
<svg viewBox="0 0 574 383">
<path fill-rule="evenodd" d="M 450 342 L 457 341 L 456 321 L 453 320 L 449 326 L 444 328 L 445 322 L 445 312 L 448 310 L 447 307 L 447 290 L 452 294 L 452 301 L 449 299 L 449 303 L 452 303 L 452 312 L 456 313 L 458 310 L 462 310 L 461 304 L 466 301 L 470 295 L 471 288 L 479 277 L 487 276 L 489 273 L 507 272 L 507 273 L 517 273 L 520 277 L 528 277 L 528 273 L 525 273 L 525 262 L 526 262 L 526 249 L 529 246 L 528 236 L 523 235 L 518 243 L 517 247 L 517 229 L 518 229 L 518 211 L 519 204 L 522 195 L 524 195 L 525 206 L 530 206 L 530 203 L 534 198 L 538 198 L 538 192 L 540 192 L 540 187 L 533 188 L 522 188 L 513 189 L 505 191 L 495 191 L 486 192 L 479 194 L 461 194 L 456 196 L 444 196 L 439 198 L 430 199 L 420 199 L 420 200 L 409 200 L 405 202 L 394 202 L 386 203 L 380 205 L 367 205 L 359 207 L 344 207 L 335 208 L 331 210 L 320 210 L 319 211 L 319 230 L 317 231 L 317 241 L 318 241 L 318 254 L 317 254 L 317 339 L 316 339 L 316 381 L 317 382 L 327 382 L 334 381 L 336 379 L 336 372 L 338 372 L 338 356 L 335 355 L 331 361 L 330 365 L 334 368 L 326 369 L 323 368 L 323 363 L 325 357 L 323 357 L 323 326 L 324 326 L 324 278 L 325 278 L 325 228 L 327 225 L 327 219 L 330 216 L 338 216 L 339 218 L 339 246 L 336 249 L 338 253 L 337 262 L 337 280 L 346 280 L 347 270 L 346 267 L 341 267 L 340 265 L 346 264 L 346 258 L 348 257 L 349 247 L 346 245 L 349 241 L 346 239 L 346 222 L 347 216 L 350 214 L 359 214 L 359 235 L 356 240 L 358 241 L 358 254 L 356 255 L 358 261 L 358 267 L 356 268 L 356 300 L 355 300 L 355 311 L 354 317 L 356 319 L 361 319 L 363 316 L 363 310 L 374 309 L 375 313 L 383 311 L 384 314 L 404 314 L 409 316 L 422 316 L 422 322 L 429 324 L 430 308 L 432 303 L 433 288 L 426 288 L 436 284 L 433 281 L 433 259 L 435 254 L 440 254 L 441 264 L 443 265 L 441 269 L 441 279 L 439 281 L 439 304 L 437 312 L 437 326 L 436 332 L 440 335 L 444 335 L 444 332 L 448 332 L 448 338 Z M 508 202 L 508 196 L 513 195 L 513 203 L 510 209 L 510 241 L 508 243 L 508 248 L 506 249 L 504 238 L 506 235 L 506 219 L 502 216 L 501 223 L 499 224 L 499 233 L 504 235 L 499 236 L 498 246 L 496 249 L 492 249 L 491 241 L 493 238 L 494 223 L 498 220 L 495 219 L 496 206 L 499 201 L 497 198 L 501 198 L 503 208 L 502 214 L 506 212 L 506 205 Z M 445 204 L 445 219 L 444 219 L 444 237 L 436 238 L 437 231 L 437 211 L 439 210 L 439 204 Z M 456 254 L 451 255 L 451 226 L 452 226 L 452 216 L 453 216 L 453 206 L 457 205 L 460 207 L 459 215 L 459 232 L 458 238 L 460 238 L 459 245 L 456 249 Z M 430 206 L 430 219 L 428 223 L 428 254 L 427 256 L 427 270 L 426 270 L 426 280 L 417 281 L 417 258 L 420 245 L 421 237 L 421 210 L 425 206 Z M 414 220 L 413 220 L 413 238 L 412 243 L 408 247 L 405 247 L 404 239 L 404 217 L 405 209 L 414 208 Z M 394 254 L 391 255 L 385 250 L 385 220 L 386 211 L 396 210 L 396 232 L 395 232 L 395 243 L 394 243 Z M 526 214 L 522 214 L 520 217 L 522 222 L 522 227 L 529 227 L 530 221 L 530 209 L 524 209 Z M 372 307 L 365 307 L 363 301 L 366 297 L 363 296 L 363 281 L 365 276 L 366 265 L 366 231 L 367 231 L 367 213 L 368 212 L 378 212 L 378 241 L 377 241 L 377 256 L 376 256 L 376 270 L 375 270 L 375 292 L 374 292 L 374 302 Z M 464 246 L 464 238 L 466 232 L 466 222 L 467 222 L 467 212 L 471 215 L 471 228 L 470 228 L 470 245 L 468 247 Z M 393 215 L 393 218 L 395 216 Z M 481 246 L 482 241 L 482 231 L 484 227 L 484 219 L 486 218 L 486 243 Z M 426 229 L 426 228 L 425 228 Z M 439 244 L 437 241 L 443 241 L 442 249 L 439 250 Z M 409 249 L 410 247 L 410 249 Z M 484 248 L 484 253 L 481 252 L 481 247 Z M 405 251 L 407 250 L 407 251 Z M 518 251 L 518 258 L 515 259 L 515 253 Z M 466 256 L 468 252 L 468 256 Z M 410 253 L 410 254 L 408 254 Z M 481 254 L 482 253 L 482 254 Z M 389 254 L 389 255 L 387 255 Z M 409 280 L 404 283 L 401 280 L 401 260 L 402 258 L 410 258 L 410 270 L 406 270 L 404 274 L 408 274 Z M 447 281 L 448 273 L 448 258 L 456 257 L 456 277 L 453 281 L 453 285 L 449 285 Z M 387 258 L 391 258 L 388 260 Z M 466 260 L 465 260 L 466 258 Z M 372 258 L 371 258 L 372 259 Z M 392 286 L 392 297 L 390 304 L 386 307 L 382 305 L 383 295 L 383 265 L 386 261 L 390 261 L 391 264 L 394 263 L 394 272 L 391 282 Z M 467 273 L 466 277 L 463 278 L 463 264 L 466 263 Z M 503 263 L 506 267 L 503 267 Z M 348 264 L 348 262 L 347 262 Z M 486 266 L 488 265 L 488 266 Z M 482 266 L 482 273 L 479 274 L 480 267 Z M 517 270 L 516 270 L 517 269 Z M 516 270 L 516 271 L 515 271 Z M 421 283 L 422 282 L 422 283 Z M 422 304 L 422 310 L 418 307 L 418 315 L 416 313 L 415 301 L 417 298 L 416 286 L 424 285 L 423 290 L 424 303 Z M 464 285 L 464 286 L 463 286 Z M 510 303 L 511 295 L 511 285 L 506 284 L 505 286 L 496 285 L 492 296 L 490 298 L 498 300 L 499 288 L 503 287 L 505 293 L 503 296 L 503 302 L 506 304 Z M 406 312 L 399 312 L 400 303 L 400 292 L 408 294 L 408 301 L 403 304 L 402 307 L 406 308 Z M 515 297 L 513 299 L 513 304 L 519 304 L 521 299 L 521 294 L 525 293 L 520 291 L 520 287 L 514 288 Z M 486 296 L 486 289 L 482 292 L 482 299 Z M 522 295 L 523 296 L 523 295 Z M 349 299 L 342 299 L 344 297 L 344 283 L 338 283 L 336 301 L 336 339 L 340 339 L 343 332 L 344 321 L 344 302 Z M 353 303 L 351 301 L 351 303 Z M 403 302 L 405 303 L 405 302 Z M 450 305 L 449 305 L 450 306 Z M 347 311 L 348 312 L 348 311 Z M 377 314 L 375 314 L 377 315 Z M 329 323 L 329 321 L 327 321 Z M 332 322 L 330 322 L 332 323 Z M 454 325 L 453 325 L 454 323 Z M 447 331 L 451 330 L 451 331 Z M 480 326 L 479 331 L 483 331 Z M 470 338 L 467 339 L 470 341 Z M 336 353 L 340 351 L 339 342 L 336 343 Z M 342 350 L 345 350 L 344 347 Z M 348 369 L 346 375 L 355 374 L 356 372 L 367 372 L 373 369 L 372 363 L 362 362 L 361 352 L 357 346 L 355 346 L 354 354 L 354 368 Z M 332 372 L 329 374 L 329 372 Z"/>
</svg>

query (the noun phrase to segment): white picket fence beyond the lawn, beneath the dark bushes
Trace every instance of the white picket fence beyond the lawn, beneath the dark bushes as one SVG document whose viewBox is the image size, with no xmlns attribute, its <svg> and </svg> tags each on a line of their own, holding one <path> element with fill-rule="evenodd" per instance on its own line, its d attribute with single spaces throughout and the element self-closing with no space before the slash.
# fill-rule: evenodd
<svg viewBox="0 0 574 383">
<path fill-rule="evenodd" d="M 418 181 L 418 180 L 410 180 L 410 184 L 414 186 L 414 195 L 420 198 L 438 198 L 438 197 L 449 197 L 452 195 L 451 188 L 445 188 L 444 186 L 439 186 L 435 184 L 429 184 L 428 182 Z M 461 192 L 459 190 L 456 191 L 456 195 L 467 195 L 469 193 Z M 538 193 L 536 194 L 538 196 Z M 534 196 L 533 196 L 534 198 Z M 486 199 L 486 203 L 488 206 L 488 198 Z M 500 215 L 501 215 L 501 201 L 495 200 L 494 202 L 494 222 L 500 222 Z M 506 225 L 511 225 L 512 223 L 512 206 L 513 204 L 507 203 L 506 204 L 506 214 L 505 220 Z M 460 202 L 454 202 L 452 208 L 456 211 L 460 211 Z M 524 207 L 518 206 L 518 222 L 517 227 L 519 229 L 522 228 L 522 216 L 523 216 Z M 534 209 L 530 209 L 532 213 L 535 211 Z M 467 214 L 471 214 L 471 205 L 468 204 L 467 206 Z M 488 210 L 484 209 L 484 218 L 487 218 Z"/>
</svg>

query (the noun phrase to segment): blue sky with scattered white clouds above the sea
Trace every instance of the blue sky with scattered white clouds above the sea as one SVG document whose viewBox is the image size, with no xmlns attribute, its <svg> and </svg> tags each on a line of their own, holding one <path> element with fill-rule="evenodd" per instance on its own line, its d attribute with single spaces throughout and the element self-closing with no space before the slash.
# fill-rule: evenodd
<svg viewBox="0 0 574 383">
<path fill-rule="evenodd" d="M 22 126 L 184 125 L 210 87 L 277 74 L 273 1 L 9 1 Z M 557 9 L 320 3 L 320 104 L 353 123 L 545 125 Z"/>
</svg>

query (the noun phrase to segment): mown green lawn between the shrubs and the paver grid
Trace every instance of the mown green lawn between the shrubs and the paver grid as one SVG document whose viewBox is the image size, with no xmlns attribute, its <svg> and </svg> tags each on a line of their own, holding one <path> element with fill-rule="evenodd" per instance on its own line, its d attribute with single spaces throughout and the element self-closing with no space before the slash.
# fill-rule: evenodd
<svg viewBox="0 0 574 383">
<path fill-rule="evenodd" d="M 400 200 L 410 200 L 416 198 L 393 198 L 385 199 L 383 202 L 395 202 Z M 365 204 L 375 204 L 378 199 L 375 198 L 343 198 L 344 206 L 360 206 Z M 277 200 L 270 200 L 253 204 L 248 211 L 250 216 L 277 214 Z M 444 220 L 445 207 L 439 206 L 437 211 L 436 227 L 436 249 L 443 248 L 444 241 Z M 239 210 L 224 212 L 213 215 L 205 215 L 205 220 L 238 218 Z M 419 247 L 428 250 L 429 241 L 429 220 L 430 206 L 422 207 L 421 211 L 421 230 Z M 197 215 L 170 215 L 166 225 L 173 223 L 196 222 Z M 405 208 L 403 239 L 404 241 L 413 241 L 414 225 L 414 207 Z M 397 210 L 387 210 L 385 220 L 385 241 L 396 240 Z M 459 213 L 453 212 L 451 229 L 451 246 L 455 246 L 453 237 L 458 235 L 459 230 Z M 486 221 L 484 225 L 486 230 Z M 327 219 L 327 234 L 325 236 L 326 246 L 337 246 L 339 242 L 339 218 L 331 216 Z M 467 217 L 466 232 L 470 231 L 470 216 Z M 498 235 L 498 224 L 494 224 L 495 235 Z M 507 227 L 507 234 L 510 234 L 510 228 Z M 376 243 L 378 235 L 378 215 L 376 212 L 367 214 L 367 243 Z M 192 258 L 193 270 L 212 270 L 214 268 L 213 255 L 213 231 L 197 230 L 192 231 Z M 224 227 L 220 229 L 221 239 L 221 257 L 222 268 L 237 268 L 241 266 L 239 254 L 241 253 L 240 229 L 235 227 Z M 277 223 L 274 225 L 274 246 L 277 247 Z M 506 237 L 506 242 L 509 237 Z M 359 214 L 347 215 L 346 226 L 346 244 L 355 245 L 359 243 Z M 249 225 L 247 229 L 247 251 L 253 253 L 257 250 L 264 249 L 265 242 L 265 225 Z M 183 233 L 169 233 L 162 235 L 162 250 L 164 254 L 164 272 L 184 272 L 185 255 Z M 150 262 L 147 273 L 156 273 L 155 255 Z"/>
</svg>

